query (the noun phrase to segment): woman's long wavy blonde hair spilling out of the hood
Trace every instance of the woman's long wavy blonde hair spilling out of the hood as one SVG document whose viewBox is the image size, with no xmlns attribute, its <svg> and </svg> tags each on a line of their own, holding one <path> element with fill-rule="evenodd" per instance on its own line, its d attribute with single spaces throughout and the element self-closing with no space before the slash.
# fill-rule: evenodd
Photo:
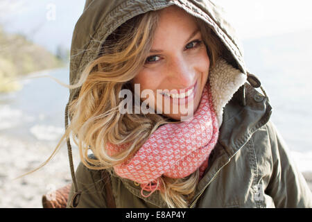
<svg viewBox="0 0 312 222">
<path fill-rule="evenodd" d="M 177 123 L 162 114 L 119 112 L 122 101 L 119 92 L 121 89 L 132 90 L 130 80 L 146 61 L 153 43 L 158 14 L 157 11 L 146 12 L 116 28 L 103 43 L 98 58 L 85 67 L 78 83 L 69 85 L 70 89 L 80 87 L 80 92 L 69 104 L 71 122 L 51 157 L 60 148 L 62 140 L 72 134 L 73 142 L 79 148 L 80 160 L 86 167 L 112 171 L 116 164 L 132 157 L 159 126 Z M 213 67 L 221 54 L 222 44 L 205 22 L 196 17 L 194 19 L 207 46 L 210 67 Z M 131 145 L 116 155 L 108 155 L 104 148 L 108 142 Z M 88 157 L 89 149 L 96 160 Z M 168 207 L 188 207 L 198 178 L 198 170 L 186 178 L 162 176 L 160 195 Z"/>
</svg>

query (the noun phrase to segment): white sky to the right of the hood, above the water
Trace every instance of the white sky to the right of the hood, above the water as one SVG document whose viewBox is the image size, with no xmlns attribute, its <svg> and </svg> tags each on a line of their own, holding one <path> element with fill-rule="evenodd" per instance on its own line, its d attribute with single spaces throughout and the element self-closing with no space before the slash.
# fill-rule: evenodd
<svg viewBox="0 0 312 222">
<path fill-rule="evenodd" d="M 217 0 L 242 40 L 312 29 L 311 0 Z"/>
</svg>

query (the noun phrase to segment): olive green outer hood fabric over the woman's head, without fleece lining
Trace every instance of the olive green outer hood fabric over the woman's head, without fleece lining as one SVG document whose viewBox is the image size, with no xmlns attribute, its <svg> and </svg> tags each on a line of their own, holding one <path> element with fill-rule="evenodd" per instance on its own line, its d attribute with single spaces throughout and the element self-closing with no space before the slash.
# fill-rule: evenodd
<svg viewBox="0 0 312 222">
<path fill-rule="evenodd" d="M 243 49 L 236 38 L 234 28 L 225 20 L 223 9 L 213 1 L 187 0 L 87 0 L 83 14 L 73 31 L 70 57 L 70 84 L 78 81 L 89 60 L 94 60 L 105 39 L 128 19 L 150 10 L 159 10 L 171 5 L 183 8 L 194 17 L 207 23 L 228 49 L 227 57 L 233 58 L 243 74 L 247 74 L 243 60 Z M 72 89 L 69 101 L 78 96 L 79 88 Z"/>
</svg>

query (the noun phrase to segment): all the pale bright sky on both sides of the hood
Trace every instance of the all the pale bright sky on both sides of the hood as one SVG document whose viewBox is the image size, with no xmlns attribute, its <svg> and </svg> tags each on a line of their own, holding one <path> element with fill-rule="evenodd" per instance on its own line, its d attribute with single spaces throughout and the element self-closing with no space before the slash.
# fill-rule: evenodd
<svg viewBox="0 0 312 222">
<path fill-rule="evenodd" d="M 217 0 L 241 40 L 312 29 L 311 0 Z M 0 24 L 55 51 L 70 47 L 85 0 L 1 0 Z M 8 7 L 10 6 L 10 7 Z"/>
</svg>

